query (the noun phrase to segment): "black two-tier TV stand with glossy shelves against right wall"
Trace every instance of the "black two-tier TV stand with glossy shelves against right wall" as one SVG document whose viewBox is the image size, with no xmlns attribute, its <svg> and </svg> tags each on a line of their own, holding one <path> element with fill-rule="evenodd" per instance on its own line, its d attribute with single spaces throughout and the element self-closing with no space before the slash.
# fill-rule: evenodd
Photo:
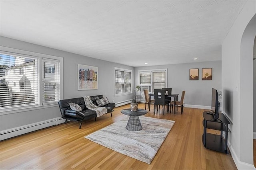
<svg viewBox="0 0 256 170">
<path fill-rule="evenodd" d="M 228 154 L 228 124 L 230 122 L 226 116 L 220 113 L 219 118 L 214 120 L 212 114 L 204 111 L 203 117 L 204 134 L 202 135 L 202 142 L 204 147 Z M 206 129 L 218 130 L 220 131 L 220 135 L 207 133 Z M 222 137 L 222 132 L 225 132 L 225 139 Z"/>
</svg>

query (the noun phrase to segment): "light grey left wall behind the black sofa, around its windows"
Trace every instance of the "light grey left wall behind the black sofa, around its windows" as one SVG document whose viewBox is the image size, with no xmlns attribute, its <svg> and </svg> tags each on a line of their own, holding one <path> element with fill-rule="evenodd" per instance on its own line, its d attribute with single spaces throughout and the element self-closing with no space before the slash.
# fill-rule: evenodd
<svg viewBox="0 0 256 170">
<path fill-rule="evenodd" d="M 126 100 L 132 100 L 134 98 L 134 94 L 114 97 L 114 67 L 134 70 L 134 68 L 131 66 L 93 59 L 90 57 L 76 55 L 73 53 L 26 43 L 15 39 L 9 39 L 6 37 L 0 37 L 0 46 L 63 57 L 64 99 L 104 94 L 105 96 L 108 96 L 108 99 L 111 102 L 114 100 L 114 102 L 118 103 Z M 78 64 L 86 64 L 98 67 L 98 90 L 77 90 Z M 49 119 L 55 119 L 56 117 L 60 116 L 60 109 L 57 104 L 52 107 L 40 107 L 31 111 L 20 110 L 16 113 L 8 114 L 1 112 L 0 134 L 2 131 L 6 131 L 8 129 L 15 129 L 24 125 L 47 121 Z"/>
</svg>

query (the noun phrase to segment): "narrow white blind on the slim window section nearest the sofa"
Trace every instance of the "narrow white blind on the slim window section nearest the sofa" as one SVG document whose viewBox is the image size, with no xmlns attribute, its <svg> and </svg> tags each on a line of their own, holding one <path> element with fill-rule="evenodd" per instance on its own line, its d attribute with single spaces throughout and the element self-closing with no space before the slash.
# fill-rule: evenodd
<svg viewBox="0 0 256 170">
<path fill-rule="evenodd" d="M 60 100 L 60 62 L 42 59 L 42 103 L 52 104 Z"/>
</svg>

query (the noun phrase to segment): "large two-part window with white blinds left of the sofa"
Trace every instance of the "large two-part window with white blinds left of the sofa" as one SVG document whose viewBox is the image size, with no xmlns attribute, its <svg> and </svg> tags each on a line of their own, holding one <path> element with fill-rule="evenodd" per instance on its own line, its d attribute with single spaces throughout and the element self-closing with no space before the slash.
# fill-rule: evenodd
<svg viewBox="0 0 256 170">
<path fill-rule="evenodd" d="M 13 53 L 0 51 L 1 110 L 56 104 L 63 96 L 63 86 L 60 86 L 62 58 L 21 51 L 26 53 L 24 55 L 17 51 L 20 52 L 16 49 L 13 49 Z"/>
</svg>

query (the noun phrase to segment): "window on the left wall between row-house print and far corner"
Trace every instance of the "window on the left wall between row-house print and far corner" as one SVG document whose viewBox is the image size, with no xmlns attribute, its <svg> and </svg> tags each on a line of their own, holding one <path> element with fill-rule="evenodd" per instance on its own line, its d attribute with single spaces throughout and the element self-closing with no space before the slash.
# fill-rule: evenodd
<svg viewBox="0 0 256 170">
<path fill-rule="evenodd" d="M 115 96 L 132 93 L 132 70 L 115 67 Z"/>
</svg>

